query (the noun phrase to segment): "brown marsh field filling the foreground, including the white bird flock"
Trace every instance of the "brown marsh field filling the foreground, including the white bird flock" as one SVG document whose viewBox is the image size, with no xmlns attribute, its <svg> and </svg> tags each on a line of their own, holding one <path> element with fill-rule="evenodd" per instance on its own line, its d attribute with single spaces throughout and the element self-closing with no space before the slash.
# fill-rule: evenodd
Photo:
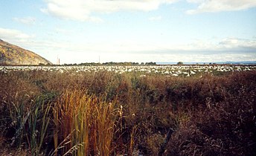
<svg viewBox="0 0 256 156">
<path fill-rule="evenodd" d="M 255 66 L 0 67 L 0 155 L 256 155 Z"/>
</svg>

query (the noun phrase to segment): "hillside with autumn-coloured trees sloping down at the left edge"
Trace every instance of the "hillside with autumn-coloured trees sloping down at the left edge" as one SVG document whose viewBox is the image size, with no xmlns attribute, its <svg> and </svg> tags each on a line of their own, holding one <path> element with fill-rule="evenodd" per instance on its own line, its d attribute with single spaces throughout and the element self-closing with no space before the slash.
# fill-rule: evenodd
<svg viewBox="0 0 256 156">
<path fill-rule="evenodd" d="M 32 51 L 0 39 L 0 65 L 52 65 L 47 59 Z"/>
</svg>

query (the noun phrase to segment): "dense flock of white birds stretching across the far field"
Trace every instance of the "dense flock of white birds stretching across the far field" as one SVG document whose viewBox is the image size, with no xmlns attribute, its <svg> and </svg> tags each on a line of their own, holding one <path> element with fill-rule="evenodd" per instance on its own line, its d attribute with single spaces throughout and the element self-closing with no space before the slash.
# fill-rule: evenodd
<svg viewBox="0 0 256 156">
<path fill-rule="evenodd" d="M 147 74 L 191 77 L 195 74 L 255 71 L 256 65 L 150 65 L 150 66 L 0 66 L 0 71 L 55 71 L 55 72 L 97 72 L 110 71 L 118 74 L 139 72 L 141 77 Z"/>
</svg>

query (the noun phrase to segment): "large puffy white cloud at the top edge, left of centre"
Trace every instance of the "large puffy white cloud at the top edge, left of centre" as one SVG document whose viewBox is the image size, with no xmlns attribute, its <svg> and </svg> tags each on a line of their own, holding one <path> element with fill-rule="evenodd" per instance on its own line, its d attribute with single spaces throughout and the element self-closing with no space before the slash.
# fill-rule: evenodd
<svg viewBox="0 0 256 156">
<path fill-rule="evenodd" d="M 45 0 L 47 7 L 41 11 L 61 19 L 102 22 L 102 19 L 93 14 L 156 10 L 161 4 L 170 4 L 174 1 L 177 0 Z"/>
</svg>

